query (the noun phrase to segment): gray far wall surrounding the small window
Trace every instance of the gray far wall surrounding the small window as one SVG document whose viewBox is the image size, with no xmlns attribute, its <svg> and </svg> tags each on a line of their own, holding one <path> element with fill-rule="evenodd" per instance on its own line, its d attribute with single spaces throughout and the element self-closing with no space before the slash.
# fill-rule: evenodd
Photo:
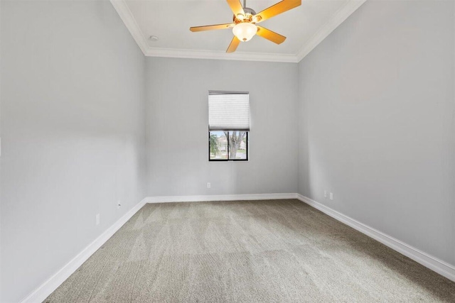
<svg viewBox="0 0 455 303">
<path fill-rule="evenodd" d="M 297 67 L 147 57 L 147 193 L 296 192 Z M 249 162 L 208 162 L 209 89 L 250 92 Z"/>
</svg>

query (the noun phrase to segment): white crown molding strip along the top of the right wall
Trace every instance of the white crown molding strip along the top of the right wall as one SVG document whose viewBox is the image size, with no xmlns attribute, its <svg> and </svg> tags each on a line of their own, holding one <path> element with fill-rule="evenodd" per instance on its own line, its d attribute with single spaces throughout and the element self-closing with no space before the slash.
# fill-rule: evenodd
<svg viewBox="0 0 455 303">
<path fill-rule="evenodd" d="M 354 11 L 356 11 L 367 0 L 349 0 L 341 9 L 339 9 L 333 17 L 325 23 L 318 31 L 308 40 L 296 53 L 296 60 L 300 62 L 311 50 L 314 50 L 319 43 L 322 42 L 328 35 L 338 28 Z"/>
</svg>

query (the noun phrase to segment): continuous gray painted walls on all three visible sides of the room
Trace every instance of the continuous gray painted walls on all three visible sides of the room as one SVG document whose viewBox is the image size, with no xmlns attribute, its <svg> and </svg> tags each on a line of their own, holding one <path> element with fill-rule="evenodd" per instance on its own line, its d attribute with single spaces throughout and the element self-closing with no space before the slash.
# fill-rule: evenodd
<svg viewBox="0 0 455 303">
<path fill-rule="evenodd" d="M 1 302 L 145 196 L 298 191 L 455 264 L 452 1 L 368 1 L 299 65 L 144 60 L 108 1 L 0 8 Z M 208 162 L 209 89 L 250 92 L 250 162 Z"/>
</svg>

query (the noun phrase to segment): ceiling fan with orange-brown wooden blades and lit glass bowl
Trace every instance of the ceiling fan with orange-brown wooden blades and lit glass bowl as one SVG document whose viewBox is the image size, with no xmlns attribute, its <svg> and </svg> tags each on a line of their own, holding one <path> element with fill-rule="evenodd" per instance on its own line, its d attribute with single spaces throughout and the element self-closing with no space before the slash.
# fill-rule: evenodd
<svg viewBox="0 0 455 303">
<path fill-rule="evenodd" d="M 234 13 L 232 23 L 216 24 L 213 26 L 194 26 L 190 28 L 190 31 L 192 32 L 232 28 L 234 38 L 232 38 L 232 41 L 230 42 L 226 53 L 234 53 L 241 41 L 249 41 L 256 34 L 274 43 L 283 43 L 284 40 L 286 40 L 286 37 L 284 37 L 284 35 L 270 31 L 267 28 L 263 28 L 262 26 L 257 26 L 256 24 L 301 5 L 301 0 L 283 0 L 277 4 L 270 6 L 267 9 L 264 9 L 264 11 L 256 13 L 253 9 L 247 7 L 246 0 L 243 0 L 243 7 L 240 0 L 226 1 L 228 1 L 230 9 Z"/>
</svg>

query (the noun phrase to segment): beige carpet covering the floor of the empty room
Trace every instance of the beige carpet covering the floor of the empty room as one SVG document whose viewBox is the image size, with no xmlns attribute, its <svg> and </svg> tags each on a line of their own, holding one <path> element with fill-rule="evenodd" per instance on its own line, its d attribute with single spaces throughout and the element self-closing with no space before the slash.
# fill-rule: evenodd
<svg viewBox="0 0 455 303">
<path fill-rule="evenodd" d="M 45 302 L 455 302 L 455 283 L 298 200 L 166 203 Z"/>
</svg>

